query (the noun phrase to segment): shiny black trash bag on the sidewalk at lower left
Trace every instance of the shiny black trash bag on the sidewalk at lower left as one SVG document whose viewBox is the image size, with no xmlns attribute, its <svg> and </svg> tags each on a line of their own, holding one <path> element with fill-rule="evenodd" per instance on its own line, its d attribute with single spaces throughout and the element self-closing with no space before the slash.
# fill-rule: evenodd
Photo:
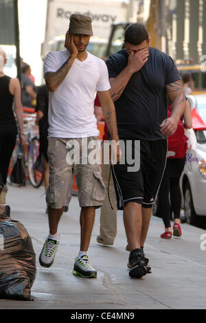
<svg viewBox="0 0 206 323">
<path fill-rule="evenodd" d="M 19 221 L 10 219 L 8 205 L 0 204 L 0 298 L 32 300 L 35 277 L 32 239 Z"/>
</svg>

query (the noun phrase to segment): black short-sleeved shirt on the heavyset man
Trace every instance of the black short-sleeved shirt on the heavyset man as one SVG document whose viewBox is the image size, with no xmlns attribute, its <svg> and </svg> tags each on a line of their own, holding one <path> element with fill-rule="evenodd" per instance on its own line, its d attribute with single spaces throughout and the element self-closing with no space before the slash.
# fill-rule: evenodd
<svg viewBox="0 0 206 323">
<path fill-rule="evenodd" d="M 168 118 L 165 85 L 180 80 L 172 58 L 150 47 L 149 58 L 131 76 L 122 96 L 115 102 L 119 138 L 162 140 L 159 125 Z M 128 64 L 126 49 L 108 57 L 109 78 L 115 78 Z"/>
</svg>

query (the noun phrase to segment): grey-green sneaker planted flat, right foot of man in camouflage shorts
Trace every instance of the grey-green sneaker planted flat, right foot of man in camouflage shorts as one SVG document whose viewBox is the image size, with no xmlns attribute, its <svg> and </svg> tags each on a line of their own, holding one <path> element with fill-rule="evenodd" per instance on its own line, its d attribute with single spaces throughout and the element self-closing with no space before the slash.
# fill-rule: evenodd
<svg viewBox="0 0 206 323">
<path fill-rule="evenodd" d="M 73 275 L 82 278 L 97 278 L 97 271 L 91 266 L 89 257 L 86 254 L 76 258 L 73 265 Z"/>
</svg>

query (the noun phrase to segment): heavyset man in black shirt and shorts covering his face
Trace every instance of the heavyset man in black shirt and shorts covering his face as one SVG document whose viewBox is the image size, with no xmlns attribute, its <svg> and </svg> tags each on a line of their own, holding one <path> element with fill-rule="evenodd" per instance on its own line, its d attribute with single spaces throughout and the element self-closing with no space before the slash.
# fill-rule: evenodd
<svg viewBox="0 0 206 323">
<path fill-rule="evenodd" d="M 176 131 L 185 109 L 185 96 L 172 58 L 150 47 L 144 25 L 128 26 L 124 42 L 125 49 L 109 56 L 106 65 L 119 139 L 132 143 L 133 159 L 137 159 L 135 142 L 140 141 L 140 167 L 130 172 L 129 163 L 120 162 L 113 167 L 113 178 L 117 208 L 124 210 L 129 275 L 139 278 L 148 272 L 143 247 L 165 168 L 167 136 Z M 173 105 L 170 118 L 168 99 Z"/>
</svg>

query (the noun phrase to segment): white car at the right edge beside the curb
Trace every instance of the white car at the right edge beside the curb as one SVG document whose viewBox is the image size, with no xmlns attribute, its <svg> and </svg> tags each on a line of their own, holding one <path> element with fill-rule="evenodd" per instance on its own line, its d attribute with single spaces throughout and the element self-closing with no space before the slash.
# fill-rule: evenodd
<svg viewBox="0 0 206 323">
<path fill-rule="evenodd" d="M 191 110 L 196 107 L 206 124 L 206 94 L 187 98 Z M 187 223 L 195 224 L 197 215 L 206 216 L 206 129 L 186 130 L 185 135 L 189 140 L 180 186 L 185 220 Z"/>
</svg>

